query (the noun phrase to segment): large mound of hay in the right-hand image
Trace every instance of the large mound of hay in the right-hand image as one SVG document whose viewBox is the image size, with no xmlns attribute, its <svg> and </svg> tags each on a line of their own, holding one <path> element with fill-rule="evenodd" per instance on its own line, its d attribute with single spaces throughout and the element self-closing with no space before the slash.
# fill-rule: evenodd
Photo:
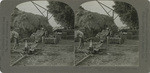
<svg viewBox="0 0 150 73">
<path fill-rule="evenodd" d="M 83 29 L 87 37 L 93 37 L 107 27 L 110 28 L 113 33 L 118 30 L 112 17 L 90 12 L 83 8 L 78 10 L 75 19 L 75 26 L 79 26 L 80 29 Z"/>
</svg>

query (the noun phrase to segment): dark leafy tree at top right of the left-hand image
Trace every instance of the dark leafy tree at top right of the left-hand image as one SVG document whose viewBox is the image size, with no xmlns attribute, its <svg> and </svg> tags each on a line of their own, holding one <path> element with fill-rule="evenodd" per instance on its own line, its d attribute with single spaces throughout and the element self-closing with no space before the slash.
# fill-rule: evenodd
<svg viewBox="0 0 150 73">
<path fill-rule="evenodd" d="M 48 11 L 54 16 L 57 23 L 65 28 L 74 28 L 74 12 L 67 4 L 49 1 Z"/>
</svg>

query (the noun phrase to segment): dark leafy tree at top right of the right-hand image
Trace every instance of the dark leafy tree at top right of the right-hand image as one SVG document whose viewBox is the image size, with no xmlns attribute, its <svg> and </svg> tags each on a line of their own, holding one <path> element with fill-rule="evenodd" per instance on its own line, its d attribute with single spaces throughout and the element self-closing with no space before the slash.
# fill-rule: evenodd
<svg viewBox="0 0 150 73">
<path fill-rule="evenodd" d="M 139 29 L 137 11 L 132 5 L 125 2 L 115 1 L 113 8 L 123 23 L 126 23 L 131 29 Z"/>
</svg>

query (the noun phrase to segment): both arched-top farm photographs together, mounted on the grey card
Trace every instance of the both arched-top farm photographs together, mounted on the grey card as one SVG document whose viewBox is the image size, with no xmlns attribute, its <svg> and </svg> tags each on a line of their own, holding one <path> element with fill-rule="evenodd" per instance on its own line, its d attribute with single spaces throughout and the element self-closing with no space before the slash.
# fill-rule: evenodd
<svg viewBox="0 0 150 73">
<path fill-rule="evenodd" d="M 11 66 L 139 66 L 136 9 L 88 1 L 28 1 L 11 13 Z"/>
</svg>

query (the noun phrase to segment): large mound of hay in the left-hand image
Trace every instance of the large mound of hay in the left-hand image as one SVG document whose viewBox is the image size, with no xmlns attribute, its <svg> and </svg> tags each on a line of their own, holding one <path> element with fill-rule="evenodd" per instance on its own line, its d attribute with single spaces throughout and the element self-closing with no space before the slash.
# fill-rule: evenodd
<svg viewBox="0 0 150 73">
<path fill-rule="evenodd" d="M 41 27 L 45 28 L 49 33 L 52 32 L 52 26 L 46 17 L 23 12 L 17 8 L 14 9 L 11 16 L 11 26 L 17 28 L 22 37 L 29 37 Z"/>
</svg>

